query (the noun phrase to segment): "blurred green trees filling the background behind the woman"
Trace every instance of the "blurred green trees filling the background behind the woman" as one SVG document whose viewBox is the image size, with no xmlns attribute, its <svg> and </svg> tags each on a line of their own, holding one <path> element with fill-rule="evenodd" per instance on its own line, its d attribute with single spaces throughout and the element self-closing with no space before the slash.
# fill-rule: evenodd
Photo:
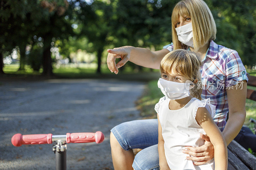
<svg viewBox="0 0 256 170">
<path fill-rule="evenodd" d="M 51 76 L 60 67 L 106 68 L 108 48 L 159 50 L 171 43 L 173 0 L 1 0 L 0 73 L 19 64 Z M 256 1 L 205 0 L 215 18 L 217 44 L 256 63 Z M 138 70 L 127 63 L 125 68 Z M 123 68 L 124 69 L 124 68 Z M 144 68 L 143 68 L 144 69 Z M 140 68 L 141 70 L 141 68 Z"/>
</svg>

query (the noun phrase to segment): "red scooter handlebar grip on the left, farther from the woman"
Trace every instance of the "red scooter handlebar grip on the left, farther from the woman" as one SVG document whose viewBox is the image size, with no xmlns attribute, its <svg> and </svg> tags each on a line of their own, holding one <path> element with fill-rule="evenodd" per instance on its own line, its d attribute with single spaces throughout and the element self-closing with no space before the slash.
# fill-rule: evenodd
<svg viewBox="0 0 256 170">
<path fill-rule="evenodd" d="M 18 133 L 13 135 L 12 144 L 14 146 L 21 146 L 23 144 L 52 144 L 52 134 L 21 135 Z"/>
</svg>

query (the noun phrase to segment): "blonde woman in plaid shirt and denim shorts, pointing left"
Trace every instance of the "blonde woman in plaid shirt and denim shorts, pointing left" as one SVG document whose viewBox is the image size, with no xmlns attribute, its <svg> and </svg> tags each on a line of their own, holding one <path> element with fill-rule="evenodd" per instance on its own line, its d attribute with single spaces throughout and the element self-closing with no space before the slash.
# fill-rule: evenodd
<svg viewBox="0 0 256 170">
<path fill-rule="evenodd" d="M 210 97 L 216 106 L 213 118 L 222 131 L 227 145 L 236 137 L 243 126 L 246 112 L 245 100 L 248 78 L 244 65 L 235 50 L 216 44 L 216 25 L 207 4 L 202 0 L 182 0 L 172 11 L 172 44 L 162 50 L 124 46 L 108 49 L 108 68 L 118 73 L 118 68 L 127 61 L 159 69 L 160 61 L 173 49 L 187 49 L 202 57 L 202 99 Z M 116 58 L 122 58 L 115 63 Z M 228 115 L 228 121 L 226 122 Z M 115 169 L 159 169 L 157 151 L 157 119 L 124 122 L 110 133 L 111 154 Z M 206 135 L 201 147 L 184 150 L 188 160 L 203 165 L 213 158 L 214 147 Z M 132 149 L 141 150 L 134 158 Z M 132 168 L 133 167 L 133 168 Z"/>
</svg>

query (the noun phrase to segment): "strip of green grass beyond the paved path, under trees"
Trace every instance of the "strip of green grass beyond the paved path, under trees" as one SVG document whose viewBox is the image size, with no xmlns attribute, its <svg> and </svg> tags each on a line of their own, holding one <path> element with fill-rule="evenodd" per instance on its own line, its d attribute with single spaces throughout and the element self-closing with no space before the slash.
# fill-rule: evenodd
<svg viewBox="0 0 256 170">
<path fill-rule="evenodd" d="M 43 72 L 43 69 L 39 71 L 33 71 L 29 65 L 25 65 L 25 70 L 19 70 L 19 64 L 10 64 L 5 65 L 3 77 L 5 78 L 40 78 Z M 96 73 L 97 68 L 83 68 L 83 67 L 74 67 L 71 66 L 61 66 L 60 68 L 56 68 L 55 64 L 53 64 L 53 74 L 54 76 L 51 78 L 115 78 L 115 79 L 123 79 L 123 80 L 136 80 L 136 81 L 149 81 L 152 79 L 158 78 L 159 70 L 150 70 L 148 68 L 143 68 L 142 71 L 137 69 L 132 69 L 132 67 L 124 67 L 123 69 L 119 69 L 118 74 L 111 73 L 107 67 L 107 65 L 101 66 L 101 74 Z"/>
</svg>

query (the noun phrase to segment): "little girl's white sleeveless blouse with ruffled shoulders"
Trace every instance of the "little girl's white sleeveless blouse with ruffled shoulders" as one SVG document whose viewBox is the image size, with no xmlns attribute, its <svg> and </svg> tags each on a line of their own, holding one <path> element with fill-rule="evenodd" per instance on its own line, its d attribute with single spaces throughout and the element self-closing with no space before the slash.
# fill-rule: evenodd
<svg viewBox="0 0 256 170">
<path fill-rule="evenodd" d="M 210 104 L 210 98 L 198 100 L 192 98 L 184 107 L 178 110 L 169 109 L 170 99 L 162 97 L 156 103 L 155 110 L 159 116 L 164 138 L 164 152 L 168 166 L 172 170 L 209 170 L 214 169 L 214 158 L 204 165 L 195 166 L 189 156 L 182 152 L 185 146 L 198 147 L 204 144 L 200 133 L 206 134 L 196 122 L 198 107 L 206 107 L 212 118 L 215 116 L 216 106 Z"/>
</svg>

